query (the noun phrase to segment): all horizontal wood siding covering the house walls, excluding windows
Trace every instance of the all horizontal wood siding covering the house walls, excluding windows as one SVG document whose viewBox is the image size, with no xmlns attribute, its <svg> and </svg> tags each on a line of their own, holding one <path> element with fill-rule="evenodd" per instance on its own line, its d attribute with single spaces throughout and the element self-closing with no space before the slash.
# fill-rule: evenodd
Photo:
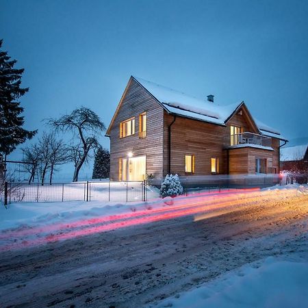
<svg viewBox="0 0 308 308">
<path fill-rule="evenodd" d="M 242 111 L 242 114 L 241 112 Z M 146 138 L 139 138 L 139 115 L 146 112 Z M 120 122 L 135 116 L 136 133 L 120 138 Z M 118 112 L 110 127 L 110 178 L 119 180 L 119 159 L 146 155 L 146 174 L 153 173 L 156 178 L 168 174 L 169 138 L 168 126 L 174 120 L 133 78 L 130 79 Z M 220 174 L 255 173 L 255 158 L 268 159 L 268 170 L 276 168 L 278 172 L 279 140 L 272 139 L 274 151 L 245 147 L 226 149 L 226 140 L 230 135 L 230 126 L 240 126 L 242 131 L 257 133 L 243 106 L 228 120 L 226 126 L 205 123 L 199 120 L 176 116 L 171 127 L 171 172 L 185 173 L 185 155 L 194 155 L 194 174 L 211 174 L 211 157 L 219 160 Z"/>
</svg>

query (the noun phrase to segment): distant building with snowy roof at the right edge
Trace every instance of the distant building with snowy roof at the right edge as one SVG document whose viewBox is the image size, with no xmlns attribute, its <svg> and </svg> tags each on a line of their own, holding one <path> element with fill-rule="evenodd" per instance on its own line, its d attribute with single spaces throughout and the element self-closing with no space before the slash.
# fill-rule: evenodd
<svg viewBox="0 0 308 308">
<path fill-rule="evenodd" d="M 308 144 L 281 148 L 281 169 L 287 171 L 308 170 Z"/>
</svg>

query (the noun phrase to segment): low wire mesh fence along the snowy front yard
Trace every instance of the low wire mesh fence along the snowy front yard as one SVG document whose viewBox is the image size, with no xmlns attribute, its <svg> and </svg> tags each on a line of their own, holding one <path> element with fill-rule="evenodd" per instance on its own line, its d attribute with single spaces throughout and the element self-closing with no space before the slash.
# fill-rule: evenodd
<svg viewBox="0 0 308 308">
<path fill-rule="evenodd" d="M 73 183 L 25 183 L 6 182 L 4 203 L 16 202 L 65 202 L 65 201 L 104 201 L 131 202 L 149 201 L 159 198 L 159 188 L 164 179 L 148 181 L 85 181 Z M 242 188 L 265 188 L 280 183 L 285 179 L 279 175 L 230 176 L 209 175 L 180 177 L 183 194 L 213 190 L 231 190 Z"/>
</svg>

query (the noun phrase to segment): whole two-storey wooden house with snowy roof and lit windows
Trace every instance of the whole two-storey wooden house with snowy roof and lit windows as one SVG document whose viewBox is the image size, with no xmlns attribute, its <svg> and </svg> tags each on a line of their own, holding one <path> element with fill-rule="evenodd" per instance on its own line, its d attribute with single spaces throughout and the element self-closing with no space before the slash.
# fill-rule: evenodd
<svg viewBox="0 0 308 308">
<path fill-rule="evenodd" d="M 222 106 L 131 77 L 107 129 L 110 179 L 279 172 L 281 134 L 244 102 Z"/>
</svg>

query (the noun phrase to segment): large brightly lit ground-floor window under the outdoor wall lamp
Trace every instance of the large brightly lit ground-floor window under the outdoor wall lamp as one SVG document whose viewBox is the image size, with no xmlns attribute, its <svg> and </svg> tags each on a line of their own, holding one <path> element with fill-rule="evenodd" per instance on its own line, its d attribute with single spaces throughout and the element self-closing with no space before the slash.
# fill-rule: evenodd
<svg viewBox="0 0 308 308">
<path fill-rule="evenodd" d="M 120 181 L 143 181 L 146 177 L 146 156 L 120 158 Z"/>
</svg>

